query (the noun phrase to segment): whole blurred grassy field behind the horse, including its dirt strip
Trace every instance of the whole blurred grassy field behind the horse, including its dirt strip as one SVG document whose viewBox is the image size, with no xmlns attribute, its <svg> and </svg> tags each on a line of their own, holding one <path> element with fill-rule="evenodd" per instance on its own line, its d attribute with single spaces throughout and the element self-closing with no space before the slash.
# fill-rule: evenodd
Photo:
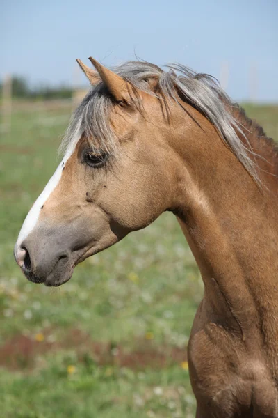
<svg viewBox="0 0 278 418">
<path fill-rule="evenodd" d="M 278 107 L 245 107 L 277 137 Z M 173 215 L 89 258 L 60 288 L 29 283 L 15 264 L 67 112 L 17 113 L 1 135 L 0 415 L 194 417 L 186 344 L 202 281 Z"/>
</svg>

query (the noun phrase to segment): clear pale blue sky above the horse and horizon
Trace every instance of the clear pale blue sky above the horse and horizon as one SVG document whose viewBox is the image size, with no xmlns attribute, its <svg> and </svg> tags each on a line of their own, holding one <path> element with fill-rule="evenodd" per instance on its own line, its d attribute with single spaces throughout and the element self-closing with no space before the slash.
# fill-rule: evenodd
<svg viewBox="0 0 278 418">
<path fill-rule="evenodd" d="M 0 77 L 84 85 L 76 58 L 115 65 L 137 54 L 217 78 L 227 63 L 232 98 L 278 102 L 277 18 L 277 0 L 2 0 Z"/>
</svg>

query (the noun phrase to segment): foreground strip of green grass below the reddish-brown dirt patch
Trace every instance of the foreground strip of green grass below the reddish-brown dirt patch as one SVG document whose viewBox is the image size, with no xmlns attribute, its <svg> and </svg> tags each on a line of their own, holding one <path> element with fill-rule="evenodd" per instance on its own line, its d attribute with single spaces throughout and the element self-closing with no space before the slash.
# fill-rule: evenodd
<svg viewBox="0 0 278 418">
<path fill-rule="evenodd" d="M 13 417 L 169 417 L 193 416 L 194 401 L 186 395 L 188 372 L 179 367 L 135 373 L 129 369 L 81 366 L 72 375 L 67 362 L 74 355 L 56 355 L 39 373 L 1 373 L 0 403 Z M 187 415 L 184 415 L 187 414 Z"/>
</svg>

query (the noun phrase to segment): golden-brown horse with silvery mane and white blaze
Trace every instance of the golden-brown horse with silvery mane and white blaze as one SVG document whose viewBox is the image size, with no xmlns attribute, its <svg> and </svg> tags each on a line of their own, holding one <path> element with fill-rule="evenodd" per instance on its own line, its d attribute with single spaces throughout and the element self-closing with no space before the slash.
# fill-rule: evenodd
<svg viewBox="0 0 278 418">
<path fill-rule="evenodd" d="M 188 343 L 197 418 L 278 417 L 278 160 L 218 82 L 183 65 L 95 69 L 15 244 L 26 278 L 74 267 L 170 211 L 204 281 Z"/>
</svg>

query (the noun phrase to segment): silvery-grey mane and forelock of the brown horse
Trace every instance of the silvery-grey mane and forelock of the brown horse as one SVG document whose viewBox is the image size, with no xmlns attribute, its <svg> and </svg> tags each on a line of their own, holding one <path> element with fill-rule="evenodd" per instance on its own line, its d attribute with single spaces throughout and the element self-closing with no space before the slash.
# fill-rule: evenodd
<svg viewBox="0 0 278 418">
<path fill-rule="evenodd" d="M 247 138 L 249 131 L 234 116 L 234 104 L 217 80 L 180 64 L 167 65 L 167 68 L 168 71 L 163 71 L 157 65 L 145 61 L 128 61 L 113 68 L 113 71 L 135 88 L 156 95 L 166 108 L 170 100 L 182 100 L 195 107 L 211 121 L 222 140 L 250 175 L 260 183 L 252 146 Z M 151 79 L 157 80 L 155 93 L 150 88 Z M 133 100 L 136 100 L 136 97 Z M 115 154 L 118 141 L 110 123 L 113 103 L 113 98 L 103 82 L 92 86 L 72 116 L 61 150 L 65 151 L 72 141 L 76 142 L 76 136 L 85 135 L 92 148 L 110 155 Z M 138 109 L 140 110 L 139 102 Z M 240 136 L 244 137 L 245 141 L 242 141 Z"/>
</svg>

